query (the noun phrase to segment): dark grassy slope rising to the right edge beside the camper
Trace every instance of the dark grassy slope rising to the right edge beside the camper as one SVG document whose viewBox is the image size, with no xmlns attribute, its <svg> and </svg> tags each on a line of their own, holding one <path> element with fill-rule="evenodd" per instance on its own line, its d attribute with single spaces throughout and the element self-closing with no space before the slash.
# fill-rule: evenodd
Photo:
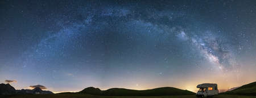
<svg viewBox="0 0 256 98">
<path fill-rule="evenodd" d="M 235 90 L 227 91 L 221 94 L 256 96 L 256 82 L 245 84 L 241 87 L 236 88 Z"/>
</svg>

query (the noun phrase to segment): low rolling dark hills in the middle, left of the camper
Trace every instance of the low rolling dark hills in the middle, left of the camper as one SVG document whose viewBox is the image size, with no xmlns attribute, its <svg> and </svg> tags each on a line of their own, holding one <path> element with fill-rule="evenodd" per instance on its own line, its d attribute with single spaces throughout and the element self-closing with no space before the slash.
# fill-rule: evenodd
<svg viewBox="0 0 256 98">
<path fill-rule="evenodd" d="M 70 92 L 67 92 L 70 93 Z M 174 87 L 160 87 L 151 90 L 129 90 L 125 88 L 110 88 L 101 91 L 99 88 L 88 87 L 77 93 L 103 96 L 167 96 L 167 95 L 195 95 L 194 92 L 180 90 Z"/>
</svg>

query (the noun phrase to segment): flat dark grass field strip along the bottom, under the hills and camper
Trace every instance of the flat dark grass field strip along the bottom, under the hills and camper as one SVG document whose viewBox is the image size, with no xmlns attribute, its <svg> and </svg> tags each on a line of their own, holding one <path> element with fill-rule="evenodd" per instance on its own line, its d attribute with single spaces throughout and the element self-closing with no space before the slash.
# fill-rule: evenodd
<svg viewBox="0 0 256 98">
<path fill-rule="evenodd" d="M 79 94 L 53 94 L 53 95 L 8 95 L 0 97 L 6 98 L 196 98 L 194 95 L 188 96 L 94 96 Z M 256 96 L 240 96 L 240 95 L 217 95 L 213 98 L 256 98 Z"/>
</svg>

